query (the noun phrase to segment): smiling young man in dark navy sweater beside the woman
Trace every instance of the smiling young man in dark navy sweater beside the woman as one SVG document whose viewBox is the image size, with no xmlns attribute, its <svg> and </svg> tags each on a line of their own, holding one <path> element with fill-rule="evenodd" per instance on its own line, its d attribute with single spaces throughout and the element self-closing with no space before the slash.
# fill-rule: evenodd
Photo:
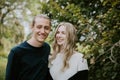
<svg viewBox="0 0 120 80">
<path fill-rule="evenodd" d="M 48 80 L 50 46 L 44 41 L 51 31 L 51 20 L 45 15 L 37 15 L 31 29 L 31 38 L 9 53 L 6 80 Z"/>
</svg>

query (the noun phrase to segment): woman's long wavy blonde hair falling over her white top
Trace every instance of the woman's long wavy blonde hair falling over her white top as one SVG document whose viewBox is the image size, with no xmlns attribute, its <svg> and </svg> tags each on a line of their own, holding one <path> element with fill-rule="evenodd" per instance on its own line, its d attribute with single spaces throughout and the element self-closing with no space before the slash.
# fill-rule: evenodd
<svg viewBox="0 0 120 80">
<path fill-rule="evenodd" d="M 60 52 L 60 46 L 57 44 L 57 41 L 56 41 L 56 33 L 60 26 L 64 26 L 66 29 L 66 41 L 63 48 L 64 62 L 63 62 L 63 68 L 62 68 L 62 70 L 64 71 L 65 68 L 69 68 L 69 59 L 74 54 L 75 43 L 77 41 L 77 34 L 76 34 L 75 27 L 69 22 L 61 22 L 57 26 L 55 35 L 54 35 L 53 45 L 52 45 L 53 53 L 50 58 L 50 62 L 54 60 L 56 58 L 56 55 Z"/>
</svg>

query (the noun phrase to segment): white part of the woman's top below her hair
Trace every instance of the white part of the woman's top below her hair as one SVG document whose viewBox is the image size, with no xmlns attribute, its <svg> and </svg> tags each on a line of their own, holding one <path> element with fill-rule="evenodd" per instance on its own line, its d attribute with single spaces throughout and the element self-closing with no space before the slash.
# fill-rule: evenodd
<svg viewBox="0 0 120 80">
<path fill-rule="evenodd" d="M 68 69 L 61 70 L 63 67 L 63 54 L 61 53 L 57 54 L 49 67 L 53 80 L 68 80 L 78 71 L 88 70 L 87 60 L 83 58 L 83 54 L 78 52 L 71 56 Z"/>
</svg>

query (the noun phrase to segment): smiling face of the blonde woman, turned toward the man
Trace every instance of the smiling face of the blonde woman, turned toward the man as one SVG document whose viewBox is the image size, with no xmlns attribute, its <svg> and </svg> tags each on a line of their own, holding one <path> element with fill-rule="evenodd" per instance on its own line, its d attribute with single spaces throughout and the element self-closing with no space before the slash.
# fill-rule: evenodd
<svg viewBox="0 0 120 80">
<path fill-rule="evenodd" d="M 56 32 L 56 41 L 59 46 L 63 46 L 66 40 L 66 29 L 64 26 L 60 26 Z"/>
</svg>

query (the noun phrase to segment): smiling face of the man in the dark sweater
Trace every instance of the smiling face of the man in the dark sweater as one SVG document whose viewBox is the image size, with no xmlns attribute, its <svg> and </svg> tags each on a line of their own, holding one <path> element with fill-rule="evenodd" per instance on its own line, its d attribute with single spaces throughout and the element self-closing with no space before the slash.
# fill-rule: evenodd
<svg viewBox="0 0 120 80">
<path fill-rule="evenodd" d="M 44 42 L 50 33 L 51 26 L 50 21 L 45 18 L 36 18 L 35 24 L 32 28 L 33 37 L 37 42 Z"/>
</svg>

